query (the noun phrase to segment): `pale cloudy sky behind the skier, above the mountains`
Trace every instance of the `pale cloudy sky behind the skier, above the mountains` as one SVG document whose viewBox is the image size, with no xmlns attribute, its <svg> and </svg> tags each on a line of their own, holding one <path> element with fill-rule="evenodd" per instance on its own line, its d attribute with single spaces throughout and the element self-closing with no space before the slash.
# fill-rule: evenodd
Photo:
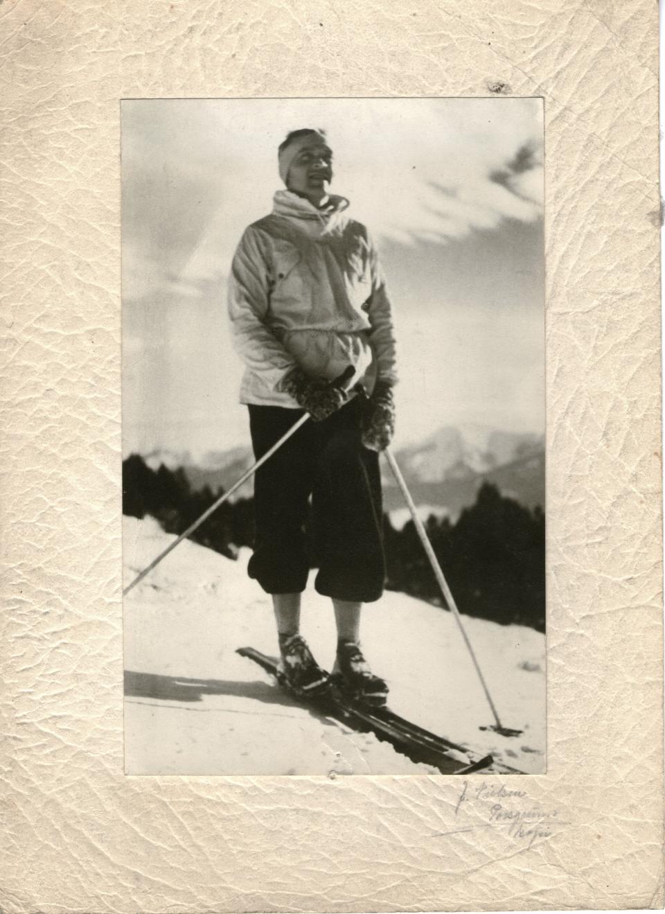
<svg viewBox="0 0 665 914">
<path fill-rule="evenodd" d="M 544 431 L 539 99 L 123 101 L 123 452 L 248 444 L 230 261 L 322 127 L 332 192 L 372 231 L 396 320 L 396 445 L 444 425 Z"/>
</svg>

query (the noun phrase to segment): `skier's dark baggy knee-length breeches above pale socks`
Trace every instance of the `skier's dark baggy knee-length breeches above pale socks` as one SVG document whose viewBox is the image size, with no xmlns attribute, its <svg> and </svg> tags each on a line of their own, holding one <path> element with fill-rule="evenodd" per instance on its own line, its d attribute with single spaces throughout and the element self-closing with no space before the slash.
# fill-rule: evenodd
<svg viewBox="0 0 665 914">
<path fill-rule="evenodd" d="M 310 556 L 305 520 L 311 496 L 319 571 L 315 587 L 336 600 L 371 602 L 383 593 L 385 557 L 378 454 L 361 441 L 362 402 L 321 422 L 309 420 L 259 467 L 254 480 L 256 537 L 248 573 L 268 593 L 305 589 Z M 249 406 L 257 459 L 303 415 Z"/>
</svg>

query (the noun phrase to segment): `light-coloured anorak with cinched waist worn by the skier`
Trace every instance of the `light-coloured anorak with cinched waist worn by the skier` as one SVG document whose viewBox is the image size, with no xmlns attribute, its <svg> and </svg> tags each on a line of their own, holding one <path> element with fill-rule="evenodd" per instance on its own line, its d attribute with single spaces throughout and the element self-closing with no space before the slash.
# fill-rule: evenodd
<svg viewBox="0 0 665 914">
<path fill-rule="evenodd" d="M 322 210 L 279 190 L 269 216 L 245 229 L 233 258 L 228 314 L 246 370 L 240 402 L 297 408 L 280 389 L 293 367 L 340 377 L 350 365 L 371 392 L 396 382 L 395 335 L 375 246 L 345 215 L 345 197 Z"/>
</svg>

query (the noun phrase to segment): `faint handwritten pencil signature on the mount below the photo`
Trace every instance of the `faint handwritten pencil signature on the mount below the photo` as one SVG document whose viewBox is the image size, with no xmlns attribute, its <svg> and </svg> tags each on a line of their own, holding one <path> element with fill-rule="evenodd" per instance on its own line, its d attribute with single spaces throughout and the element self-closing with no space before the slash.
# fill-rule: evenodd
<svg viewBox="0 0 665 914">
<path fill-rule="evenodd" d="M 448 832 L 435 832 L 432 837 L 472 832 L 479 828 L 497 829 L 512 841 L 529 850 L 567 823 L 561 820 L 556 807 L 531 800 L 526 791 L 506 787 L 502 783 L 462 781 L 454 807 L 457 827 Z M 472 816 L 473 821 L 468 822 Z"/>
</svg>

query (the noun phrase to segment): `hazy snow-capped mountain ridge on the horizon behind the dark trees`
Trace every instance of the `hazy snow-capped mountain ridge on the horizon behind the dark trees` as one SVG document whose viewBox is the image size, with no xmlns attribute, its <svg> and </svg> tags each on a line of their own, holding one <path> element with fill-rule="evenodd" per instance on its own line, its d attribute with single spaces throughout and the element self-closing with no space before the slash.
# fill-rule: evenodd
<svg viewBox="0 0 665 914">
<path fill-rule="evenodd" d="M 208 452 L 193 460 L 184 452 L 154 451 L 142 455 L 153 469 L 183 467 L 195 489 L 209 485 L 213 491 L 228 489 L 253 462 L 248 447 Z M 544 507 L 544 435 L 512 432 L 471 423 L 444 426 L 424 441 L 396 451 L 396 460 L 417 505 L 445 509 L 452 516 L 472 505 L 480 485 L 495 484 L 526 507 Z M 404 507 L 402 494 L 382 461 L 386 511 Z M 249 482 L 237 497 L 252 493 Z"/>
</svg>

